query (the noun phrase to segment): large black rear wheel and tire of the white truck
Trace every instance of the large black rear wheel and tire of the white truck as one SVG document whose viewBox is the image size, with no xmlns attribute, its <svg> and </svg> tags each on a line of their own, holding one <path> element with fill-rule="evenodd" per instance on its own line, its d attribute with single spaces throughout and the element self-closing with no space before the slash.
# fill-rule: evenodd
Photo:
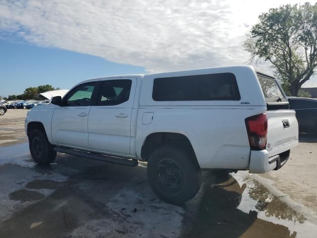
<svg viewBox="0 0 317 238">
<path fill-rule="evenodd" d="M 152 153 L 147 177 L 159 198 L 176 205 L 192 199 L 202 184 L 202 173 L 195 156 L 171 146 L 159 147 Z"/>
</svg>

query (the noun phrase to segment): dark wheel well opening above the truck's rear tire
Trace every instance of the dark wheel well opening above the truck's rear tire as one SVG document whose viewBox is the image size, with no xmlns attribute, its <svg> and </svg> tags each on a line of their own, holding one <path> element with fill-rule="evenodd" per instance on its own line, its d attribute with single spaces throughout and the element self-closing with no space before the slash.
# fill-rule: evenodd
<svg viewBox="0 0 317 238">
<path fill-rule="evenodd" d="M 192 153 L 195 160 L 197 161 L 195 151 L 189 139 L 183 134 L 171 132 L 156 132 L 148 135 L 141 149 L 142 161 L 148 161 L 152 152 L 164 144 L 178 146 L 184 150 L 187 150 L 188 153 Z"/>
</svg>

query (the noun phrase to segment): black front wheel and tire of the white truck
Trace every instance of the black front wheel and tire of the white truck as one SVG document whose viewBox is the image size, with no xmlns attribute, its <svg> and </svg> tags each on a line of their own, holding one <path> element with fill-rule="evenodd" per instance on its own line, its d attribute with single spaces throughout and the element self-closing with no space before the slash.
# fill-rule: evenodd
<svg viewBox="0 0 317 238">
<path fill-rule="evenodd" d="M 38 165 L 49 165 L 56 158 L 56 151 L 43 130 L 35 129 L 29 135 L 29 148 L 33 160 Z"/>
</svg>

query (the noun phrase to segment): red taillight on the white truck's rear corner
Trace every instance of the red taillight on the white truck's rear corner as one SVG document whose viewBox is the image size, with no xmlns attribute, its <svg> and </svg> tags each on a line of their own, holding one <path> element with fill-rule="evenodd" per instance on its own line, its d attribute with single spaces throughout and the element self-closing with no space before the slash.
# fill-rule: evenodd
<svg viewBox="0 0 317 238">
<path fill-rule="evenodd" d="M 267 136 L 266 114 L 259 114 L 245 119 L 252 150 L 264 150 Z"/>
</svg>

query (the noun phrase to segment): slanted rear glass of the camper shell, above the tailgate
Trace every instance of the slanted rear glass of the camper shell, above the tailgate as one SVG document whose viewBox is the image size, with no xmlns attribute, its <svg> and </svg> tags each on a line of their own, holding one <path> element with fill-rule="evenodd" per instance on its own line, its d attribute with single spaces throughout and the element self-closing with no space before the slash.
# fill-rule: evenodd
<svg viewBox="0 0 317 238">
<path fill-rule="evenodd" d="M 287 102 L 277 82 L 269 77 L 258 74 L 259 82 L 265 97 L 266 103 Z"/>
</svg>

